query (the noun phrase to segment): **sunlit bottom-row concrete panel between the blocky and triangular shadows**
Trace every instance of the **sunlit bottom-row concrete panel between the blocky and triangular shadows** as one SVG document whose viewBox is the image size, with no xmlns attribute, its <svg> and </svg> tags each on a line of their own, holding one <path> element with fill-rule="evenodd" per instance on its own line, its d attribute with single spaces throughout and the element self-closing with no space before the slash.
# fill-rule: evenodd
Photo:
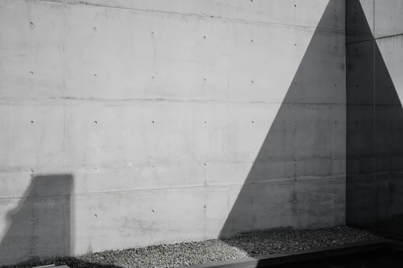
<svg viewBox="0 0 403 268">
<path fill-rule="evenodd" d="M 74 254 L 213 238 L 227 215 L 226 187 L 75 195 L 73 202 Z"/>
</svg>

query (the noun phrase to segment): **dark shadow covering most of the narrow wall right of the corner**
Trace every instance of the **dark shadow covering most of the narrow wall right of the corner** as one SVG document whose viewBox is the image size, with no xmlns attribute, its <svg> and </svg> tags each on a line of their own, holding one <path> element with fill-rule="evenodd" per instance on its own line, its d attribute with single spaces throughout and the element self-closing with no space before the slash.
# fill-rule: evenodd
<svg viewBox="0 0 403 268">
<path fill-rule="evenodd" d="M 360 1 L 351 6 L 346 16 L 354 16 L 349 21 L 356 25 L 346 28 L 371 32 Z M 403 109 L 378 46 L 381 40 L 372 34 L 366 41 L 346 35 L 356 41 L 346 46 L 346 225 L 402 238 Z"/>
</svg>

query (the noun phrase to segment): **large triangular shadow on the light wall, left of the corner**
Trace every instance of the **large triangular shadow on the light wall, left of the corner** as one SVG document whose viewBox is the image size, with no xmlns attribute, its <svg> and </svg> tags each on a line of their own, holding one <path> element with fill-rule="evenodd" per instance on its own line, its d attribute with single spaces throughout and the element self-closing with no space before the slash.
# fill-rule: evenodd
<svg viewBox="0 0 403 268">
<path fill-rule="evenodd" d="M 345 40 L 341 31 L 323 29 L 343 19 L 334 10 L 336 1 L 327 4 L 293 80 L 286 82 L 289 89 L 221 239 L 278 226 L 344 225 L 344 149 L 339 148 L 345 145 L 345 66 L 332 61 L 344 59 Z M 318 179 L 324 177 L 329 179 Z"/>
</svg>

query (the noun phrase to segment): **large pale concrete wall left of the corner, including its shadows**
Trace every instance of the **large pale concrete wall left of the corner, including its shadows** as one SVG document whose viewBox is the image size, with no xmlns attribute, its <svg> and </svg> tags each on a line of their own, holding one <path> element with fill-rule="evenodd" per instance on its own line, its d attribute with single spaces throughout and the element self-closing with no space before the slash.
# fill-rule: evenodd
<svg viewBox="0 0 403 268">
<path fill-rule="evenodd" d="M 343 0 L 79 2 L 0 2 L 0 263 L 344 224 Z"/>
</svg>

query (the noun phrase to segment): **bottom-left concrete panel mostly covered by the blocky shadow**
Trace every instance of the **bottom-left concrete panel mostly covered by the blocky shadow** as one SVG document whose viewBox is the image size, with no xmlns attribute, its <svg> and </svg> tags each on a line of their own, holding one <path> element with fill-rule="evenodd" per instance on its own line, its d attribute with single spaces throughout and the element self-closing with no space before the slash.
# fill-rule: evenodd
<svg viewBox="0 0 403 268">
<path fill-rule="evenodd" d="M 64 196 L 0 199 L 0 211 L 7 212 L 1 221 L 0 262 L 64 256 L 64 207 Z"/>
</svg>

